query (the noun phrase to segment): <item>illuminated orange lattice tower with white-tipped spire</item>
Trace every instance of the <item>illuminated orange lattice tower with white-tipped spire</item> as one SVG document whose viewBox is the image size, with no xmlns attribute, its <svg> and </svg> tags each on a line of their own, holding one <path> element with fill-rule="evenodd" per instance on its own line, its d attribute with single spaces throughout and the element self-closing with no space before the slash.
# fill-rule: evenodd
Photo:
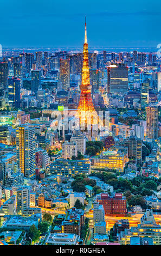
<svg viewBox="0 0 161 256">
<path fill-rule="evenodd" d="M 91 119 L 91 124 L 98 123 L 98 115 L 94 109 L 94 105 L 92 102 L 91 89 L 92 86 L 89 81 L 87 26 L 85 20 L 85 42 L 83 45 L 82 82 L 80 85 L 81 94 L 78 110 L 75 116 L 80 118 L 82 123 L 86 123 L 86 126 L 88 126 L 87 117 L 91 114 L 94 114 L 94 117 L 92 117 Z M 86 112 L 86 117 L 82 114 L 83 112 Z"/>
</svg>

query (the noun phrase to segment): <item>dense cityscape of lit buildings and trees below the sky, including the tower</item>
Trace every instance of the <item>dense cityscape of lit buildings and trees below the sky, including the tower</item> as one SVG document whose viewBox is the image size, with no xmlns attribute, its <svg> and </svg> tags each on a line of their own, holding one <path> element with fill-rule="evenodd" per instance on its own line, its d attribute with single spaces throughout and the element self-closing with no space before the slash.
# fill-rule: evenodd
<svg viewBox="0 0 161 256">
<path fill-rule="evenodd" d="M 89 29 L 2 48 L 0 245 L 161 245 L 161 57 Z"/>
</svg>

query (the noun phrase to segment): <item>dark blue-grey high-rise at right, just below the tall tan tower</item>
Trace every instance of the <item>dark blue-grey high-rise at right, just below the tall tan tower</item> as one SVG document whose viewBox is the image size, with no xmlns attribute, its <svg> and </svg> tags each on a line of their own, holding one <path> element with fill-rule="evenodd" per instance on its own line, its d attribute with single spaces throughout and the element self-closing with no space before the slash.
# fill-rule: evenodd
<svg viewBox="0 0 161 256">
<path fill-rule="evenodd" d="M 142 141 L 136 136 L 131 136 L 128 141 L 128 156 L 135 157 L 137 164 L 142 162 Z"/>
</svg>

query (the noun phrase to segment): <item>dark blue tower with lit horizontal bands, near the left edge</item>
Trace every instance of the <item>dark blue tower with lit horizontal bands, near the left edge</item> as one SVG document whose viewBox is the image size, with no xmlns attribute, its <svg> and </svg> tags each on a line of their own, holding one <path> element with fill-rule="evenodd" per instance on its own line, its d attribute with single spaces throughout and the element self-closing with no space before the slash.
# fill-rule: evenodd
<svg viewBox="0 0 161 256">
<path fill-rule="evenodd" d="M 8 102 L 10 107 L 20 107 L 20 78 L 8 78 Z"/>
</svg>

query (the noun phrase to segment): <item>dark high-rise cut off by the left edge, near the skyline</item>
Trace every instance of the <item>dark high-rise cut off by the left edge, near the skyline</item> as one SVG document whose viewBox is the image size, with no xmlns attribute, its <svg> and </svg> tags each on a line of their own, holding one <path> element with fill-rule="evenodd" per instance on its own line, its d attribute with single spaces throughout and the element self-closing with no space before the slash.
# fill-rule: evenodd
<svg viewBox="0 0 161 256">
<path fill-rule="evenodd" d="M 8 62 L 0 62 L 0 88 L 7 89 L 8 84 Z"/>
</svg>

